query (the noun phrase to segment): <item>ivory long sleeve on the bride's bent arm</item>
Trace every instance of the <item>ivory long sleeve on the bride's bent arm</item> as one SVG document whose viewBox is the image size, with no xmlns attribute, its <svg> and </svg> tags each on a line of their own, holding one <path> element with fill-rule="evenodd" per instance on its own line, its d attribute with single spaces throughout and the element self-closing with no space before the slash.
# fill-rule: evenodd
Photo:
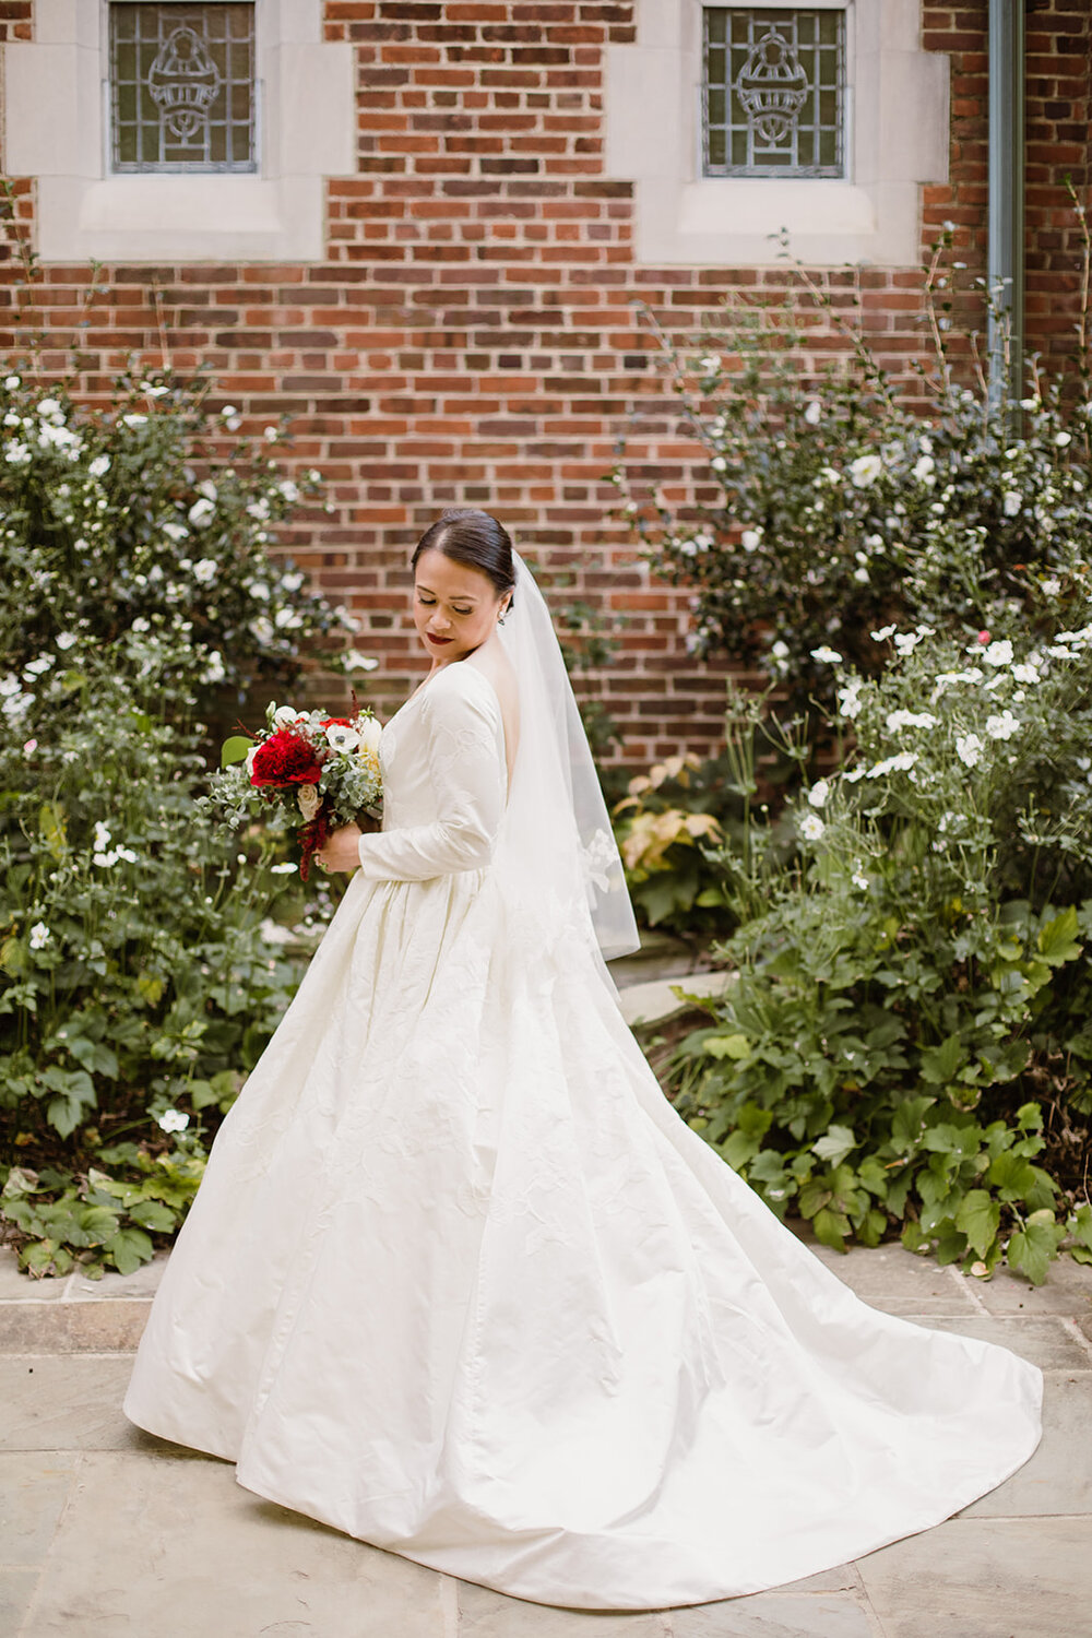
<svg viewBox="0 0 1092 1638">
<path fill-rule="evenodd" d="M 375 881 L 427 881 L 493 857 L 506 770 L 491 685 L 455 663 L 426 685 L 421 716 L 437 817 L 360 837 L 360 870 Z"/>
</svg>

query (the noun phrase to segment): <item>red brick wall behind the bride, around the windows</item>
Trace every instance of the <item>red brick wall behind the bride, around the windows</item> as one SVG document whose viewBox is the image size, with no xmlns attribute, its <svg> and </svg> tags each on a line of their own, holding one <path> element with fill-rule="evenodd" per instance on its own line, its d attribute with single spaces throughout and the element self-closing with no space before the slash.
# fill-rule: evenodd
<svg viewBox="0 0 1092 1638">
<path fill-rule="evenodd" d="M 1056 360 L 1079 282 L 1063 177 L 1089 180 L 1089 8 L 1028 8 L 1028 326 Z M 29 10 L 0 5 L 0 39 L 26 34 Z M 923 246 L 953 221 L 968 280 L 986 254 L 986 23 L 987 0 L 923 3 L 925 44 L 953 64 L 951 182 L 925 190 Z M 301 523 L 293 550 L 367 622 L 381 704 L 424 663 L 404 614 L 408 549 L 442 506 L 481 505 L 625 616 L 617 663 L 591 681 L 625 760 L 707 747 L 720 672 L 684 654 L 686 598 L 634 563 L 602 473 L 637 408 L 634 454 L 668 493 L 686 495 L 694 470 L 634 303 L 683 333 L 725 292 L 779 292 L 786 275 L 635 265 L 632 187 L 602 172 L 602 52 L 634 38 L 630 0 L 327 0 L 326 34 L 359 64 L 359 174 L 329 183 L 327 260 L 105 269 L 82 390 L 100 393 L 129 349 L 154 364 L 165 336 L 178 369 L 213 367 L 249 428 L 291 416 L 296 459 L 323 468 L 336 503 Z M 20 190 L 29 213 L 33 188 Z M 87 280 L 43 270 L 47 369 L 64 367 Z M 851 277 L 832 283 L 848 306 Z M 869 269 L 860 285 L 873 344 L 905 367 L 923 351 L 917 272 Z M 0 346 L 11 339 L 0 321 Z M 832 346 L 819 326 L 810 349 Z"/>
</svg>

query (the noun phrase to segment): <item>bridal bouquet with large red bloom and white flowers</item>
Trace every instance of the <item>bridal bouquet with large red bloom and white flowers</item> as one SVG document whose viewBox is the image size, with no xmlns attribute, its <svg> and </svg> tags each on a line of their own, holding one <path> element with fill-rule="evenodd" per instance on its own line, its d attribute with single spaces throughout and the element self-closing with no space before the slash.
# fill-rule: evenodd
<svg viewBox="0 0 1092 1638">
<path fill-rule="evenodd" d="M 211 781 L 213 806 L 237 827 L 270 808 L 296 826 L 300 875 L 331 830 L 363 811 L 375 812 L 381 796 L 380 724 L 370 711 L 329 717 L 270 704 L 265 727 L 236 734 L 221 750 L 221 773 Z"/>
</svg>

